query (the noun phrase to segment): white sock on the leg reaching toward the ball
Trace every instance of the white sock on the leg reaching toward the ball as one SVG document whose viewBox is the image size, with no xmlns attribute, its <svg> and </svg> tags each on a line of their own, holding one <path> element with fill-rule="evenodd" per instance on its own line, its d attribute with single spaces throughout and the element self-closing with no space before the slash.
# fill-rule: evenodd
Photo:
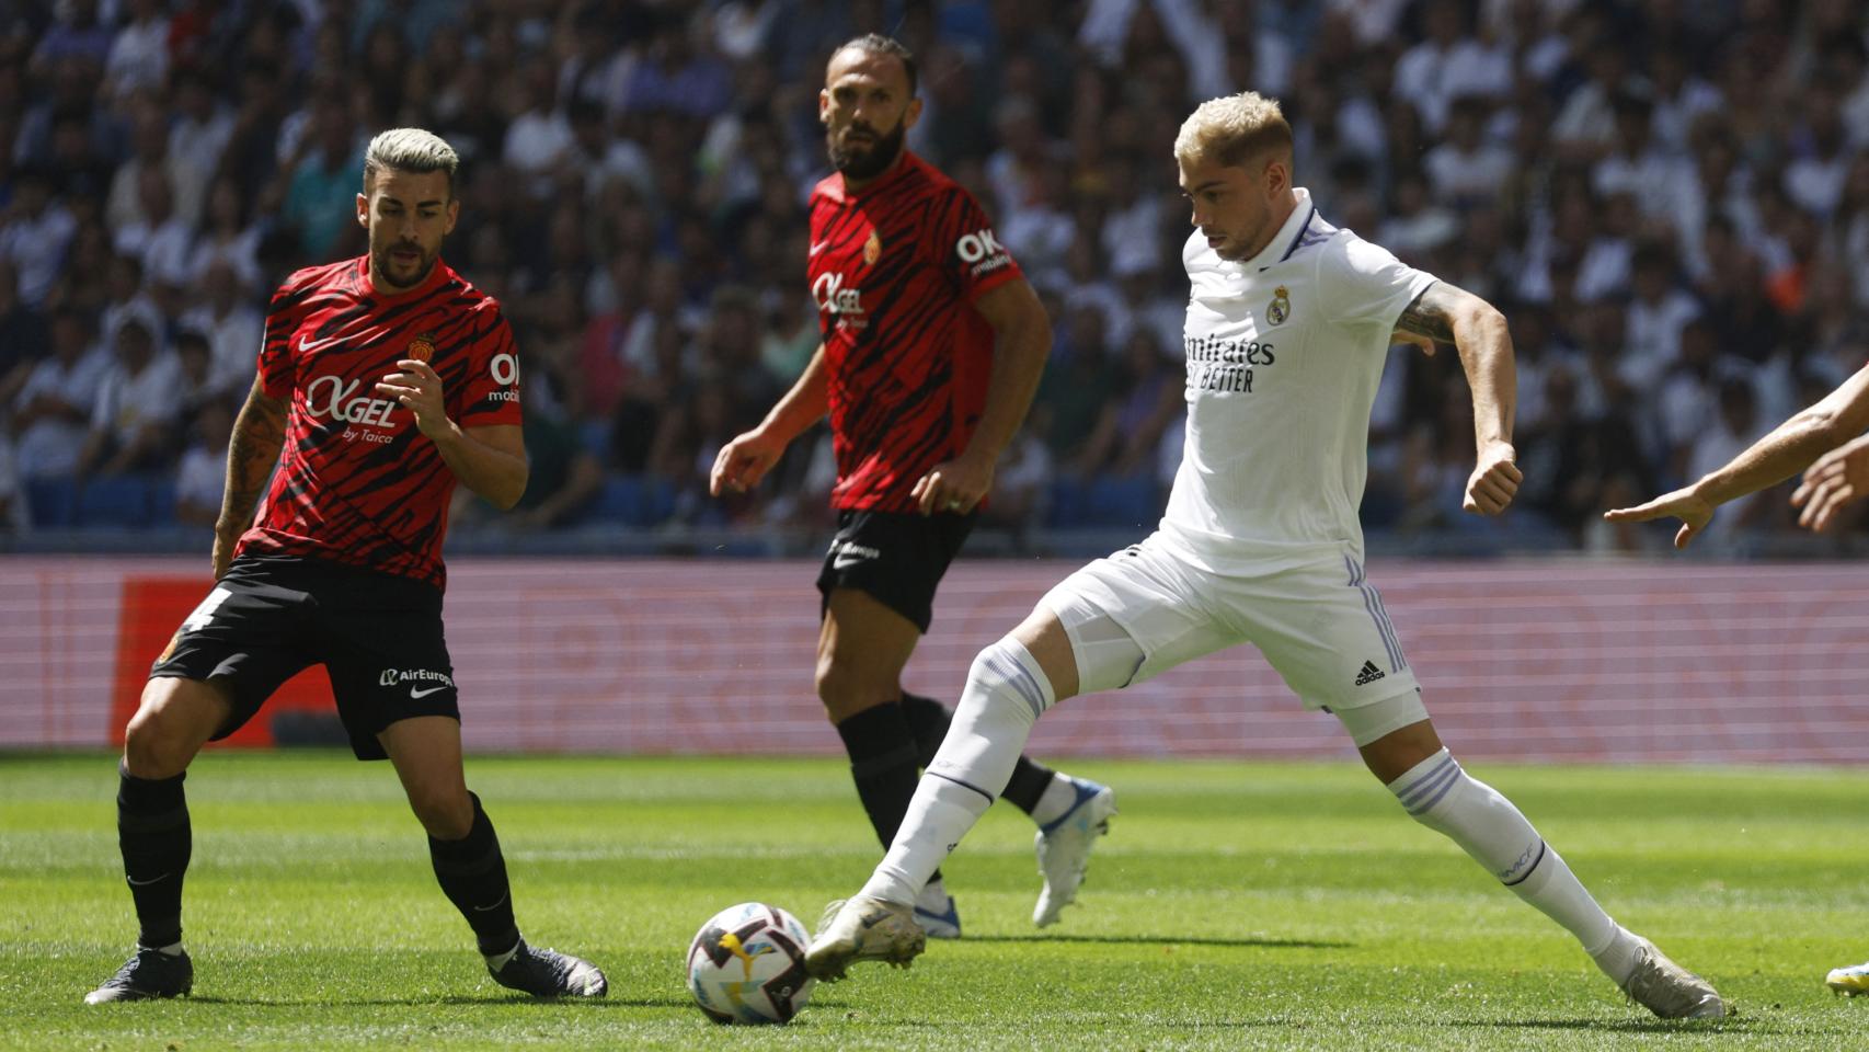
<svg viewBox="0 0 1869 1052">
<path fill-rule="evenodd" d="M 910 904 L 1013 777 L 1032 725 L 1058 699 L 1039 663 L 1006 637 L 974 658 L 953 725 L 908 815 L 860 895 Z"/>
</svg>

